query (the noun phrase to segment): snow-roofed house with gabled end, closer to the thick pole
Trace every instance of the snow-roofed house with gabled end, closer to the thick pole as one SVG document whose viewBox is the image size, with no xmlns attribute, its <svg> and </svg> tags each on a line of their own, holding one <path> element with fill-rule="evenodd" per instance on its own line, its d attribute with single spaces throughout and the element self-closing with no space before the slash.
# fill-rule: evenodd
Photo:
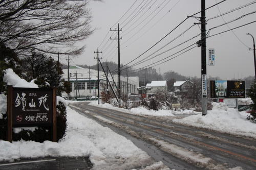
<svg viewBox="0 0 256 170">
<path fill-rule="evenodd" d="M 189 90 L 191 90 L 193 86 L 194 86 L 194 83 L 189 80 L 174 82 L 175 95 L 184 95 Z"/>
</svg>

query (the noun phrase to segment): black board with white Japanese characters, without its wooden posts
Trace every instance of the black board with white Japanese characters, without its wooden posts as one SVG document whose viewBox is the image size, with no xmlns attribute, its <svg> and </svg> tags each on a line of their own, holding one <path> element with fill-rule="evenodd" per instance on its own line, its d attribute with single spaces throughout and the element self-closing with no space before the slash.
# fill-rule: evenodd
<svg viewBox="0 0 256 170">
<path fill-rule="evenodd" d="M 13 88 L 13 127 L 52 125 L 53 90 L 39 88 Z"/>
</svg>

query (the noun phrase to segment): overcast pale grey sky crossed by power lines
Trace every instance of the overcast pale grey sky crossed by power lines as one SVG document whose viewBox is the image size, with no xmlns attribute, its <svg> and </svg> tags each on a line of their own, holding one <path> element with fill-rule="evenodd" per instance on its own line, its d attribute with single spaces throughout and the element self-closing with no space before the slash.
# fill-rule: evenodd
<svg viewBox="0 0 256 170">
<path fill-rule="evenodd" d="M 221 1 L 207 0 L 206 8 L 216 4 L 216 2 Z M 224 3 L 207 10 L 206 19 L 253 2 L 255 1 L 227 0 Z M 130 7 L 132 8 L 125 14 Z M 71 64 L 96 64 L 96 60 L 94 59 L 95 54 L 93 52 L 97 50 L 97 47 L 99 47 L 99 51 L 103 52 L 100 54 L 100 57 L 103 58 L 102 61 L 106 61 L 106 59 L 108 59 L 108 61 L 114 61 L 117 63 L 117 40 L 110 40 L 110 36 L 112 38 L 117 37 L 117 32 L 109 32 L 110 28 L 113 30 L 117 28 L 117 21 L 120 24 L 120 28 L 122 28 L 122 31 L 120 32 L 120 36 L 122 37 L 122 40 L 120 40 L 121 63 L 129 63 L 173 30 L 188 15 L 199 12 L 201 10 L 201 0 L 105 0 L 103 3 L 91 1 L 89 8 L 91 8 L 93 15 L 92 27 L 96 28 L 96 30 L 88 39 L 81 42 L 86 44 L 87 48 L 82 55 L 74 58 Z M 221 25 L 224 23 L 223 19 L 225 22 L 228 22 L 254 11 L 256 11 L 256 3 L 223 15 L 223 18 L 217 17 L 215 19 L 208 20 L 206 29 L 208 31 L 210 28 Z M 196 16 L 201 16 L 201 14 Z M 256 13 L 253 13 L 239 20 L 228 23 L 228 26 L 224 25 L 222 27 L 212 29 L 208 35 L 211 36 L 228 30 L 229 28 L 238 27 L 254 21 L 256 20 L 255 16 Z M 199 21 L 196 18 L 188 18 L 180 27 L 178 27 L 178 29 L 169 34 L 150 51 L 129 65 L 132 65 L 157 51 L 151 57 L 156 56 L 157 54 L 167 51 L 181 42 L 200 34 L 200 27 L 198 25 L 193 26 L 194 22 Z M 190 26 L 193 27 L 174 40 L 175 37 L 186 31 Z M 235 35 L 229 31 L 207 38 L 207 49 L 215 48 L 216 51 L 216 65 L 207 66 L 207 76 L 219 76 L 222 79 L 228 80 L 232 78 L 241 79 L 247 76 L 254 76 L 253 51 L 248 50 L 248 47 L 252 48 L 253 41 L 250 36 L 246 35 L 246 33 L 250 33 L 256 38 L 255 30 L 256 22 L 233 30 Z M 104 39 L 105 36 L 106 38 Z M 134 66 L 134 68 L 144 67 L 152 63 L 157 64 L 157 61 L 177 53 L 199 39 L 200 36 L 175 47 L 152 60 L 144 61 L 141 64 Z M 159 50 L 166 43 L 172 40 L 174 41 Z M 177 55 L 179 54 L 180 53 L 177 53 Z M 66 61 L 63 60 L 62 62 L 64 63 Z M 184 76 L 201 77 L 201 47 L 195 47 L 172 60 L 155 66 L 154 68 L 156 68 L 157 71 L 160 70 L 161 74 L 169 70 L 174 70 Z"/>
</svg>

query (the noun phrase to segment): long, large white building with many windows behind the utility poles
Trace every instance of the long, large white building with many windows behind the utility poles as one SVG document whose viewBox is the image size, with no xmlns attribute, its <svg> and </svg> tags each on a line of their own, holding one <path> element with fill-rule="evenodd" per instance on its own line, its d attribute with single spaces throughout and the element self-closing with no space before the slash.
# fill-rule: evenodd
<svg viewBox="0 0 256 170">
<path fill-rule="evenodd" d="M 91 72 L 91 77 L 89 72 Z M 76 65 L 69 67 L 70 83 L 72 84 L 72 91 L 70 93 L 71 99 L 76 98 L 95 98 L 98 96 L 98 71 L 95 69 L 82 68 Z M 118 75 L 113 75 L 114 81 L 118 86 Z M 68 69 L 63 69 L 62 78 L 68 81 Z M 113 88 L 116 90 L 112 77 L 108 76 Z M 106 87 L 106 78 L 103 71 L 99 71 L 100 90 Z M 127 84 L 128 81 L 128 84 Z M 76 86 L 77 83 L 77 86 Z M 128 89 L 127 89 L 128 86 Z M 121 94 L 129 93 L 137 94 L 137 87 L 139 87 L 139 77 L 126 77 L 121 76 Z M 109 86 L 109 90 L 111 87 Z M 118 93 L 116 93 L 118 95 Z M 68 96 L 67 93 L 62 92 L 62 96 Z"/>
</svg>

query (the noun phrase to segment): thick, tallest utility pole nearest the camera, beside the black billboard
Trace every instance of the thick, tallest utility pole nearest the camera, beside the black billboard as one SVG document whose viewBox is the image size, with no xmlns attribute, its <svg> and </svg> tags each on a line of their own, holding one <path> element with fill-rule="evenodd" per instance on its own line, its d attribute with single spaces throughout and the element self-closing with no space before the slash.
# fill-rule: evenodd
<svg viewBox="0 0 256 170">
<path fill-rule="evenodd" d="M 201 83 L 202 83 L 202 115 L 207 114 L 207 75 L 206 75 L 206 22 L 205 0 L 201 0 Z"/>
</svg>

